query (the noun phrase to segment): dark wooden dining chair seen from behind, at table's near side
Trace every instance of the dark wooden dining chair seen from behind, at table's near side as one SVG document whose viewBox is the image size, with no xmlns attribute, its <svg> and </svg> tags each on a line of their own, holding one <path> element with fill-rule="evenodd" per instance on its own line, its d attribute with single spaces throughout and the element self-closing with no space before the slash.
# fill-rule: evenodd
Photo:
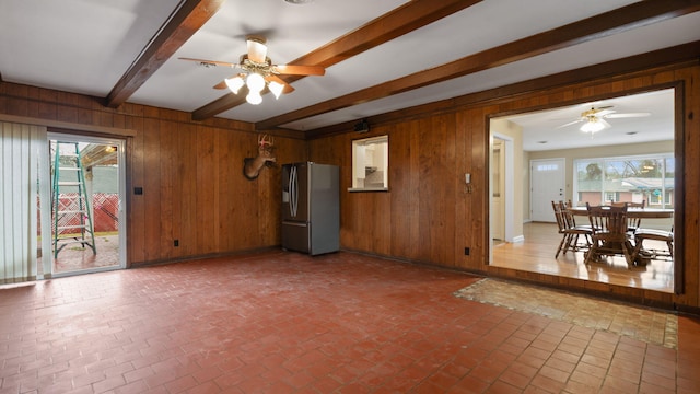
<svg viewBox="0 0 700 394">
<path fill-rule="evenodd" d="M 591 206 L 586 202 L 588 220 L 592 228 L 591 248 L 585 253 L 585 264 L 602 260 L 603 256 L 622 255 L 628 267 L 632 259 L 631 235 L 627 231 L 627 205 Z"/>
</svg>

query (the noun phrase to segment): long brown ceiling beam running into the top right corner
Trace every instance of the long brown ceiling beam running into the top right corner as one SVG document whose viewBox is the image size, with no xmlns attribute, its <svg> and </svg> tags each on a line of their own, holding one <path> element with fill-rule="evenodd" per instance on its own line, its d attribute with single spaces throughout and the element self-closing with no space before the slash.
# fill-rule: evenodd
<svg viewBox="0 0 700 394">
<path fill-rule="evenodd" d="M 549 51 L 599 39 L 632 28 L 700 10 L 700 0 L 642 1 L 599 15 L 517 39 L 462 59 L 362 89 L 340 97 L 256 123 L 256 129 L 275 128 L 413 89 L 464 77 Z"/>
</svg>

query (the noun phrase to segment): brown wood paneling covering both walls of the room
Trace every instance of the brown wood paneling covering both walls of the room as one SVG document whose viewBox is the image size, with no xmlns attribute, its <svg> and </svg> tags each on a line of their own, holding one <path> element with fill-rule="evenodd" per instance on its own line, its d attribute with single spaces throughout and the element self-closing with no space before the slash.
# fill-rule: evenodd
<svg viewBox="0 0 700 394">
<path fill-rule="evenodd" d="M 546 92 L 456 97 L 384 116 L 369 134 L 277 137 L 280 163 L 313 160 L 341 166 L 341 246 L 394 258 L 578 287 L 700 308 L 700 66 L 679 65 L 607 78 Z M 488 152 L 490 116 L 599 100 L 679 85 L 685 157 L 682 196 L 685 293 L 662 294 L 605 283 L 502 269 L 488 265 Z M 488 95 L 480 94 L 479 97 Z M 434 113 L 431 111 L 439 111 Z M 127 141 L 128 260 L 138 265 L 252 251 L 280 244 L 280 171 L 256 181 L 242 175 L 243 159 L 256 154 L 253 125 L 125 104 L 104 107 L 96 99 L 0 83 L 0 114 L 81 125 L 81 129 L 132 130 Z M 100 131 L 103 132 L 104 131 Z M 351 140 L 389 136 L 389 192 L 350 193 Z M 464 173 L 471 173 L 467 193 Z M 143 195 L 132 194 L 142 187 Z M 179 240 L 175 247 L 173 241 Z M 465 255 L 465 247 L 469 255 Z"/>
</svg>

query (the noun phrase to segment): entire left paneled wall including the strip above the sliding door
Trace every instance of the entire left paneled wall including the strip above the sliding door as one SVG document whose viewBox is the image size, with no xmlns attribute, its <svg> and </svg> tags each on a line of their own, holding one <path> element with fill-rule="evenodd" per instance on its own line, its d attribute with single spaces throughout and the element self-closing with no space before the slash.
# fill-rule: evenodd
<svg viewBox="0 0 700 394">
<path fill-rule="evenodd" d="M 255 181 L 243 175 L 243 159 L 257 154 L 250 124 L 191 121 L 187 113 L 133 104 L 110 109 L 93 97 L 5 82 L 0 114 L 74 124 L 77 134 L 129 130 L 130 265 L 280 244 L 280 169 L 264 169 Z M 98 132 L 84 131 L 92 127 Z M 306 160 L 304 140 L 276 136 L 275 142 L 279 163 Z M 135 195 L 135 187 L 143 194 Z"/>
</svg>

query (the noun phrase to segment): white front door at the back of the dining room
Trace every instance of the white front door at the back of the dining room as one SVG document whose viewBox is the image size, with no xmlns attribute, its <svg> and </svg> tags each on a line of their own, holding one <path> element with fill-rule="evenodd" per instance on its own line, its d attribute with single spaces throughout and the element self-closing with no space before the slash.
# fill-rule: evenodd
<svg viewBox="0 0 700 394">
<path fill-rule="evenodd" d="M 532 221 L 553 222 L 551 201 L 564 199 L 564 160 L 533 160 L 529 166 L 529 218 Z"/>
</svg>

